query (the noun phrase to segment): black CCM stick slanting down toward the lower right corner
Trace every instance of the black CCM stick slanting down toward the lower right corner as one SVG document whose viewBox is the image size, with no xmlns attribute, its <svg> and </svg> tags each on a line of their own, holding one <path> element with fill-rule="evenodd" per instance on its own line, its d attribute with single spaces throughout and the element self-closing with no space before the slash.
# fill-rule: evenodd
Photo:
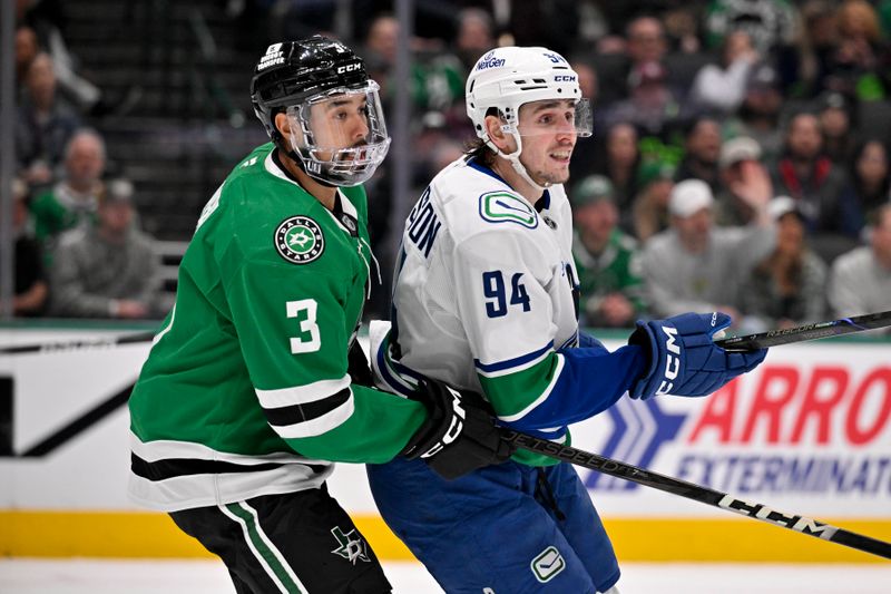
<svg viewBox="0 0 891 594">
<path fill-rule="evenodd" d="M 625 464 L 611 458 L 605 458 L 603 456 L 598 456 L 597 454 L 576 449 L 570 446 L 564 446 L 561 444 L 541 439 L 539 437 L 533 437 L 510 429 L 502 430 L 502 434 L 503 439 L 506 439 L 508 442 L 528 451 L 541 454 L 560 461 L 584 466 L 585 468 L 590 468 L 591 470 L 597 470 L 599 473 L 604 473 L 605 475 L 624 478 L 625 480 L 630 480 L 631 483 L 637 483 L 638 485 L 653 487 L 654 489 L 664 490 L 666 493 L 670 493 L 672 495 L 679 495 L 682 497 L 686 497 L 687 499 L 693 499 L 713 507 L 727 509 L 728 512 L 735 512 L 736 514 L 741 514 L 743 516 L 761 519 L 783 528 L 796 530 L 810 536 L 816 536 L 823 541 L 850 546 L 851 548 L 863 551 L 864 553 L 872 553 L 873 555 L 891 559 L 891 543 L 885 543 L 884 541 L 878 541 L 869 536 L 852 533 L 845 530 L 844 528 L 839 528 L 805 516 L 799 516 L 794 514 L 786 515 L 782 512 L 772 509 L 766 505 L 737 499 L 732 495 L 727 495 L 726 493 L 721 493 L 708 487 L 703 487 L 702 485 L 696 485 L 693 483 L 687 483 L 686 480 L 681 480 L 679 478 L 652 473 L 649 470 L 631 466 L 630 464 Z"/>
</svg>

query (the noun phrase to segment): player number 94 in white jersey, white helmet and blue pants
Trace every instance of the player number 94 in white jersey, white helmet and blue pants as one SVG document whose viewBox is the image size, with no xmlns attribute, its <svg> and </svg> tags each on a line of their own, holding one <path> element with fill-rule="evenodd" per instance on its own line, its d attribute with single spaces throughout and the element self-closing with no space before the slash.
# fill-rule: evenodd
<svg viewBox="0 0 891 594">
<path fill-rule="evenodd" d="M 705 396 L 766 351 L 728 353 L 721 313 L 638 322 L 607 351 L 579 334 L 571 213 L 562 184 L 591 110 L 545 48 L 489 51 L 467 81 L 478 145 L 440 172 L 405 223 L 392 329 L 375 371 L 409 396 L 424 377 L 479 392 L 500 422 L 565 442 L 567 425 L 626 392 Z M 617 592 L 609 537 L 575 469 L 518 451 L 457 478 L 420 459 L 370 466 L 383 518 L 451 593 Z"/>
</svg>

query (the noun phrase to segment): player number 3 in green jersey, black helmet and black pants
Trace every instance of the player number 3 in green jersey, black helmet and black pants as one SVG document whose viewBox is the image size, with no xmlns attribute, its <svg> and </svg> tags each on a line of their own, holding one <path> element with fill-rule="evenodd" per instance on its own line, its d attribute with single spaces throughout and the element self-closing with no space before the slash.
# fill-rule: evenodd
<svg viewBox="0 0 891 594">
<path fill-rule="evenodd" d="M 200 214 L 130 398 L 130 495 L 219 555 L 238 593 L 390 592 L 327 494 L 332 462 L 402 455 L 451 477 L 509 447 L 440 382 L 423 405 L 368 387 L 361 184 L 390 138 L 362 60 L 319 36 L 273 43 L 251 94 L 272 143 Z"/>
</svg>

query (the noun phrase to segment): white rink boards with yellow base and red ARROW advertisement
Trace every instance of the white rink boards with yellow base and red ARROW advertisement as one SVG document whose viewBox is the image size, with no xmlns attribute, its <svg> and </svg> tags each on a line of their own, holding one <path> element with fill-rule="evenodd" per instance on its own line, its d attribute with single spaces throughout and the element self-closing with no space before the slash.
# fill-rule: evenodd
<svg viewBox="0 0 891 594">
<path fill-rule="evenodd" d="M 0 348 L 116 333 L 7 328 Z M 0 554 L 206 556 L 167 516 L 140 512 L 126 497 L 126 392 L 148 348 L 0 354 Z M 623 399 L 574 426 L 572 444 L 891 541 L 889 354 L 884 341 L 776 348 L 755 372 L 709 398 Z M 606 475 L 579 474 L 625 561 L 879 561 Z M 410 557 L 376 515 L 362 466 L 339 465 L 331 488 L 381 557 Z"/>
</svg>

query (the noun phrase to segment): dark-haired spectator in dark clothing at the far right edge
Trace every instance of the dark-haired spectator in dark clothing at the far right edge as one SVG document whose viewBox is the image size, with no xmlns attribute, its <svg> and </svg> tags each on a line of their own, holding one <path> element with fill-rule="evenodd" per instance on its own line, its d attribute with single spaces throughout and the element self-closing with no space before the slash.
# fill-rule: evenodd
<svg viewBox="0 0 891 594">
<path fill-rule="evenodd" d="M 891 162 L 888 146 L 879 139 L 861 140 L 850 163 L 848 186 L 841 196 L 842 231 L 860 236 L 866 218 L 891 201 Z"/>
</svg>

